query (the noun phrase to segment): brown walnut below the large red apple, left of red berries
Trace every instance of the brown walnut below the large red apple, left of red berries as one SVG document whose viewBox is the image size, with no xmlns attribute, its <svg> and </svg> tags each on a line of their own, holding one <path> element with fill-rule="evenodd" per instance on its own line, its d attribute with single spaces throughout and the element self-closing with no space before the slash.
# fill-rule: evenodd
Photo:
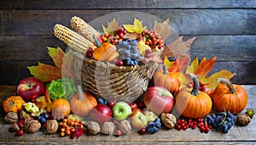
<svg viewBox="0 0 256 145">
<path fill-rule="evenodd" d="M 169 128 L 169 129 L 174 128 L 177 123 L 177 119 L 173 114 L 162 113 L 160 116 L 160 119 L 162 120 L 166 128 Z"/>
</svg>

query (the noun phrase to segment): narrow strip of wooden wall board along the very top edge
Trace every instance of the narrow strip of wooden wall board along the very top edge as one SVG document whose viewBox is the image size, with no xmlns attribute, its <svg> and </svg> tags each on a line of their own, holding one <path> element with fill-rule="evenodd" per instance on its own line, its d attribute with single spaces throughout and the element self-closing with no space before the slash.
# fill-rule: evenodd
<svg viewBox="0 0 256 145">
<path fill-rule="evenodd" d="M 12 9 L 59 9 L 59 8 L 255 8 L 254 0 L 140 0 L 140 1 L 104 1 L 104 0 L 77 0 L 71 3 L 55 1 L 33 0 L 2 0 L 0 8 Z"/>
</svg>

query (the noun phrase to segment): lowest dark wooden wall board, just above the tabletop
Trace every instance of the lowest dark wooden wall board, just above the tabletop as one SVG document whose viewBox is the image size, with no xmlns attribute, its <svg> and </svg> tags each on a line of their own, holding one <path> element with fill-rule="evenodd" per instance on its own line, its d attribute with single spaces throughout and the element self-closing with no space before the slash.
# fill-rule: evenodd
<svg viewBox="0 0 256 145">
<path fill-rule="evenodd" d="M 210 59 L 210 58 L 209 58 Z M 40 61 L 45 64 L 53 64 L 52 61 Z M 26 66 L 37 65 L 38 61 L 0 61 L 0 85 L 18 84 L 21 79 L 30 76 Z M 252 62 L 216 62 L 212 73 L 219 70 L 230 70 L 236 75 L 232 78 L 238 84 L 256 84 L 256 61 Z"/>
</svg>

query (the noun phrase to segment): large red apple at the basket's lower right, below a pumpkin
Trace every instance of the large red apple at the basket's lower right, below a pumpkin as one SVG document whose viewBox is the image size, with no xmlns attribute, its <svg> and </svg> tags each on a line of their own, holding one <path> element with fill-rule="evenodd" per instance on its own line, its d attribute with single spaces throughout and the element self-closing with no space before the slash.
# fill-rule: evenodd
<svg viewBox="0 0 256 145">
<path fill-rule="evenodd" d="M 154 114 L 170 113 L 174 106 L 172 93 L 163 86 L 150 86 L 143 94 L 143 102 Z"/>
</svg>

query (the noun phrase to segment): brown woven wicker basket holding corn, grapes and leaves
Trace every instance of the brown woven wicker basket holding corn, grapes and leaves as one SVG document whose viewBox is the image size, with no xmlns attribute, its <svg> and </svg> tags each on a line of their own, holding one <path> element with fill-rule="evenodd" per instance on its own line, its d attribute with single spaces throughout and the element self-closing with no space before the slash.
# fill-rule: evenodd
<svg viewBox="0 0 256 145">
<path fill-rule="evenodd" d="M 75 53 L 75 70 L 84 91 L 96 98 L 131 103 L 143 95 L 158 64 L 153 61 L 134 66 L 117 66 Z"/>
</svg>

